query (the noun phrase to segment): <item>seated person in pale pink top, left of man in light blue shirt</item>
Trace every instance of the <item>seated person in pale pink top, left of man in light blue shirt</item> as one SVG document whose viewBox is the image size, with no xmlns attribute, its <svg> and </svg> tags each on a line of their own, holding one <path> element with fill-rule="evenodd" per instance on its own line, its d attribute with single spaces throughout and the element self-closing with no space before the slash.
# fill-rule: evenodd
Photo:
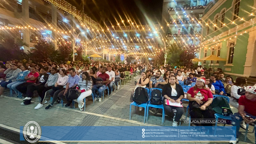
<svg viewBox="0 0 256 144">
<path fill-rule="evenodd" d="M 53 96 L 53 100 L 52 103 L 50 105 L 48 105 L 45 109 L 49 110 L 50 108 L 53 107 L 54 102 L 57 100 L 58 103 L 60 103 L 60 99 L 58 98 L 58 94 L 65 90 L 65 88 L 63 88 L 67 83 L 68 83 L 68 79 L 69 77 L 67 76 L 67 71 L 66 70 L 60 70 L 59 71 L 59 77 L 57 82 L 54 84 L 53 88 L 51 90 L 48 91 L 48 93 Z"/>
</svg>

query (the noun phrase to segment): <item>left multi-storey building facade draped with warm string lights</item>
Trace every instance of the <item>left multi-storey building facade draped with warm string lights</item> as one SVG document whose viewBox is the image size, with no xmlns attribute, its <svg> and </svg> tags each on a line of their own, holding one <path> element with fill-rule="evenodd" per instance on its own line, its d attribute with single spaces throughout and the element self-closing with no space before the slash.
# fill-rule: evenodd
<svg viewBox="0 0 256 144">
<path fill-rule="evenodd" d="M 64 0 L 1 0 L 0 28 L 16 29 L 29 44 L 25 52 L 33 49 L 38 37 L 52 41 L 57 49 L 59 40 L 79 45 L 97 38 L 101 30 L 97 22 Z"/>
</svg>

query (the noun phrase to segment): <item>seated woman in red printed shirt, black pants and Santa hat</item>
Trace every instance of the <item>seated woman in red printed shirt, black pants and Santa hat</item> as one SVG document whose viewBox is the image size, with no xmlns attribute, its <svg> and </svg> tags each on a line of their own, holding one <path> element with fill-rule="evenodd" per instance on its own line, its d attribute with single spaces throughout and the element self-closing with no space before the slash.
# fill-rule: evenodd
<svg viewBox="0 0 256 144">
<path fill-rule="evenodd" d="M 187 92 L 191 120 L 193 119 L 215 119 L 213 110 L 209 105 L 213 101 L 212 92 L 205 88 L 205 78 L 198 78 L 196 85 Z M 196 124 L 198 125 L 198 124 Z M 212 126 L 212 123 L 202 123 L 203 126 Z"/>
</svg>

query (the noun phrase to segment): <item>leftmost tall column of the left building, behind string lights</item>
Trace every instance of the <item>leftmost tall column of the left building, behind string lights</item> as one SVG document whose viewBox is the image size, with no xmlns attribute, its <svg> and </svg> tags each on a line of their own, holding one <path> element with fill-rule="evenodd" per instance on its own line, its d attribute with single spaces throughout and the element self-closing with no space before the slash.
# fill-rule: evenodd
<svg viewBox="0 0 256 144">
<path fill-rule="evenodd" d="M 22 0 L 22 19 L 24 21 L 25 26 L 27 27 L 29 24 L 29 0 Z M 23 42 L 30 45 L 30 29 L 23 29 Z M 24 46 L 24 52 L 30 51 L 30 46 Z"/>
</svg>

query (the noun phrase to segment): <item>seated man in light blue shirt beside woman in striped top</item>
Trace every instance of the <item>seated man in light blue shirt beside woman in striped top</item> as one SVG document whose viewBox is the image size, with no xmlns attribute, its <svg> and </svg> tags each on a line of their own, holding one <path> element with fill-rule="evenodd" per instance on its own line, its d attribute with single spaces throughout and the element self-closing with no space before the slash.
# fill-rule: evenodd
<svg viewBox="0 0 256 144">
<path fill-rule="evenodd" d="M 45 109 L 48 110 L 50 108 L 53 107 L 53 104 L 54 102 L 57 100 L 57 98 L 66 98 L 66 100 L 68 101 L 68 103 L 65 105 L 65 107 L 68 107 L 70 106 L 70 104 L 72 103 L 72 100 L 70 100 L 68 98 L 69 96 L 69 90 L 70 89 L 75 89 L 79 80 L 81 79 L 78 75 L 76 75 L 75 73 L 75 69 L 74 68 L 70 68 L 69 69 L 69 73 L 70 73 L 70 76 L 68 78 L 68 83 L 63 87 L 63 88 L 66 88 L 65 90 L 61 91 L 56 97 L 53 96 L 53 100 L 52 100 L 52 103 L 50 105 L 48 105 Z"/>
</svg>

